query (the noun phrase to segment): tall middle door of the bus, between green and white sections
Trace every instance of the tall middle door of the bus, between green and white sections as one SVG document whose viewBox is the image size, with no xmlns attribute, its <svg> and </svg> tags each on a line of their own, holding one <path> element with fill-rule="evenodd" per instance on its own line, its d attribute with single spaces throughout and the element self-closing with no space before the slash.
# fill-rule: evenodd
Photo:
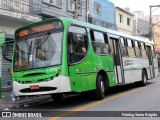
<svg viewBox="0 0 160 120">
<path fill-rule="evenodd" d="M 122 57 L 120 54 L 119 39 L 115 38 L 110 38 L 110 39 L 111 39 L 112 54 L 114 58 L 114 67 L 115 67 L 117 84 L 122 84 L 124 83 L 124 71 L 123 71 Z"/>
</svg>

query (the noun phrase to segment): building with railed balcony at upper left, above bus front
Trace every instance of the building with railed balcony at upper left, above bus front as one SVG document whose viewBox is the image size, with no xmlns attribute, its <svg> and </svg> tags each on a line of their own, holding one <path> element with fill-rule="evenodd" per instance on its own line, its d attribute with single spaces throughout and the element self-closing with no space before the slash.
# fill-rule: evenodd
<svg viewBox="0 0 160 120">
<path fill-rule="evenodd" d="M 40 16 L 30 14 L 29 0 L 0 0 L 0 31 L 6 31 L 7 38 L 13 38 L 18 27 L 39 20 Z"/>
</svg>

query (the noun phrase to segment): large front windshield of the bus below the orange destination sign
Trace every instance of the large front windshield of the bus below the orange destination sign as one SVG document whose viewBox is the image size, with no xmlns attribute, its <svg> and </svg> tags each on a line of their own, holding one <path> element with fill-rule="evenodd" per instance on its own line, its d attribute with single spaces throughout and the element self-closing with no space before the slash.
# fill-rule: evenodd
<svg viewBox="0 0 160 120">
<path fill-rule="evenodd" d="M 48 30 L 18 38 L 14 70 L 22 71 L 61 64 L 63 30 Z"/>
</svg>

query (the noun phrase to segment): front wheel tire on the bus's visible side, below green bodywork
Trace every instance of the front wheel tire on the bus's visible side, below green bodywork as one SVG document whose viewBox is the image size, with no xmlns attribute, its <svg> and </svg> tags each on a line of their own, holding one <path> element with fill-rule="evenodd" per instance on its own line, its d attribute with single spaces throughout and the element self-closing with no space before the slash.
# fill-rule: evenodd
<svg viewBox="0 0 160 120">
<path fill-rule="evenodd" d="M 102 75 L 98 75 L 96 82 L 95 97 L 97 100 L 102 100 L 105 96 L 105 85 Z"/>
</svg>

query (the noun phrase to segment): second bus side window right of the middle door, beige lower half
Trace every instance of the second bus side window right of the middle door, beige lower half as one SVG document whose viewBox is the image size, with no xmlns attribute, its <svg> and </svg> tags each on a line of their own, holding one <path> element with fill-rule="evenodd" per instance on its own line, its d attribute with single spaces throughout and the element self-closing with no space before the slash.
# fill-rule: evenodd
<svg viewBox="0 0 160 120">
<path fill-rule="evenodd" d="M 127 39 L 127 43 L 128 43 L 128 47 L 127 47 L 128 56 L 136 57 L 133 40 Z"/>
</svg>

